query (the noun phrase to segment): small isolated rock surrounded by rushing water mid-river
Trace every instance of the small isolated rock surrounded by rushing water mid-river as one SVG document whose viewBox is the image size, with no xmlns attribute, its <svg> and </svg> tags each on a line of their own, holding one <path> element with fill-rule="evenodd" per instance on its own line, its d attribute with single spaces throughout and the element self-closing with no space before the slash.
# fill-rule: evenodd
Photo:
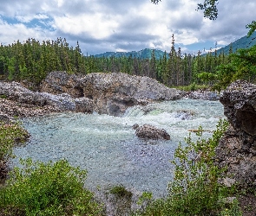
<svg viewBox="0 0 256 216">
<path fill-rule="evenodd" d="M 150 124 L 143 124 L 142 126 L 139 126 L 139 124 L 135 124 L 133 126 L 133 129 L 135 129 L 135 134 L 139 138 L 143 139 L 170 139 L 170 135 L 167 133 L 164 129 L 158 129 Z"/>
</svg>

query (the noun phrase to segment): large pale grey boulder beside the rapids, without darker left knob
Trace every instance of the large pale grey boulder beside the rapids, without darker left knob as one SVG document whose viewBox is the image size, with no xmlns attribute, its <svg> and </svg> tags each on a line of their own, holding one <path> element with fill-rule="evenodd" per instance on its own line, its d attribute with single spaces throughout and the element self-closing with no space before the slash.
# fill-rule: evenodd
<svg viewBox="0 0 256 216">
<path fill-rule="evenodd" d="M 90 73 L 76 88 L 95 103 L 99 113 L 121 116 L 128 107 L 150 102 L 178 99 L 183 92 L 167 88 L 155 79 L 127 73 Z"/>
</svg>

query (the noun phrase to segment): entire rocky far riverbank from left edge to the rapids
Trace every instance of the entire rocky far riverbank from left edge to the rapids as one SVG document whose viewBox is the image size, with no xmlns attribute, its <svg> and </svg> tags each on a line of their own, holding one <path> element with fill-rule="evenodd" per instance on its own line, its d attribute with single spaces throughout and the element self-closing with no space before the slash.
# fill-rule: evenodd
<svg viewBox="0 0 256 216">
<path fill-rule="evenodd" d="M 0 82 L 0 115 L 28 117 L 56 111 L 78 111 L 121 116 L 128 107 L 181 98 L 184 92 L 155 79 L 126 73 L 90 73 L 86 76 L 49 73 L 33 92 L 17 82 Z"/>
</svg>

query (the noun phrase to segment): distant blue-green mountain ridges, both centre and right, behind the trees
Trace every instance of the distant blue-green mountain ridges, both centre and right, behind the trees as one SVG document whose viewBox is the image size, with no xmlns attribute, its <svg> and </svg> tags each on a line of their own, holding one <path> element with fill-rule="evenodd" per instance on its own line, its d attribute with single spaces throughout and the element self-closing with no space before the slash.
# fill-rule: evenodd
<svg viewBox="0 0 256 216">
<path fill-rule="evenodd" d="M 253 38 L 255 38 L 255 39 L 253 40 Z M 233 53 L 234 53 L 239 48 L 251 48 L 255 44 L 256 44 L 256 32 L 254 32 L 253 35 L 251 35 L 250 37 L 243 36 L 240 39 L 238 39 L 237 41 L 233 41 L 231 44 L 226 45 L 226 47 L 218 49 L 217 54 L 221 54 L 222 52 L 224 52 L 224 54 L 229 54 L 230 45 L 232 45 L 232 49 L 233 49 Z M 154 50 L 154 56 L 157 60 L 160 60 L 163 58 L 165 52 L 163 52 L 159 49 L 153 49 L 153 48 L 145 48 L 145 49 L 142 49 L 141 51 L 131 51 L 131 52 L 106 52 L 103 54 L 95 54 L 94 56 L 96 58 L 101 58 L 101 57 L 106 57 L 106 58 L 117 57 L 117 58 L 119 58 L 121 56 L 123 56 L 123 57 L 131 56 L 132 58 L 151 59 L 153 50 Z M 167 54 L 167 58 L 168 58 L 168 54 Z"/>
</svg>

